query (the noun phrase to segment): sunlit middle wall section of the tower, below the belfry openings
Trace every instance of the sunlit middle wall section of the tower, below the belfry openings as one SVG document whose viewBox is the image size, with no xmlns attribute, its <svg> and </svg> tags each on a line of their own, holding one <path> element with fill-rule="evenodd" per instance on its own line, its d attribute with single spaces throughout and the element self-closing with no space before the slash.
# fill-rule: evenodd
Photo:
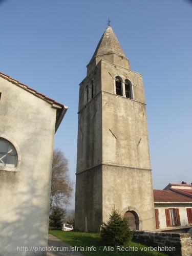
<svg viewBox="0 0 192 256">
<path fill-rule="evenodd" d="M 144 104 L 103 92 L 102 124 L 103 162 L 151 168 Z"/>
</svg>

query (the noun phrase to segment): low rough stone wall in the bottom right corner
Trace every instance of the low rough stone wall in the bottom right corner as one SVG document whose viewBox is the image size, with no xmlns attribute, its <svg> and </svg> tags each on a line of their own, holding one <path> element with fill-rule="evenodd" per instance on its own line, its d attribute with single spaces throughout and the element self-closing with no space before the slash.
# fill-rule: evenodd
<svg viewBox="0 0 192 256">
<path fill-rule="evenodd" d="M 191 256 L 191 240 L 190 234 L 183 233 L 165 233 L 153 231 L 139 231 L 134 233 L 134 240 L 148 244 L 152 247 L 157 247 L 169 255 L 174 256 Z M 159 248 L 160 247 L 160 248 Z M 175 248 L 168 250 L 168 248 Z M 163 249 L 164 248 L 164 249 Z"/>
</svg>

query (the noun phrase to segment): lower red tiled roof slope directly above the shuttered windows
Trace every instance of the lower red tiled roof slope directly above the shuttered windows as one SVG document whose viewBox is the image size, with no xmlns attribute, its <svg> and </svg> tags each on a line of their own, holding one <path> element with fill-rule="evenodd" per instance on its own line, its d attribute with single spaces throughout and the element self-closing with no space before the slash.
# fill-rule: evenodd
<svg viewBox="0 0 192 256">
<path fill-rule="evenodd" d="M 192 203 L 192 198 L 180 195 L 172 190 L 154 189 L 153 193 L 155 203 Z"/>
</svg>

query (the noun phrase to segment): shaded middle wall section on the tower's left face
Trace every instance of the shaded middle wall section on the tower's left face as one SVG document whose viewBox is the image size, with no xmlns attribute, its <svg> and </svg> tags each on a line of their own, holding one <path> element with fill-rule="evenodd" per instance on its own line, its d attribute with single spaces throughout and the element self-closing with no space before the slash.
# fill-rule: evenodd
<svg viewBox="0 0 192 256">
<path fill-rule="evenodd" d="M 101 94 L 79 112 L 77 173 L 102 162 Z"/>
</svg>

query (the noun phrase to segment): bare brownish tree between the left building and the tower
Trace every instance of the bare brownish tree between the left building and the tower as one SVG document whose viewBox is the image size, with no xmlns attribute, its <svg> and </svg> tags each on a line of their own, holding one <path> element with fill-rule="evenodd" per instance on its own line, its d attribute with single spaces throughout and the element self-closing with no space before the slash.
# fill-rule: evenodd
<svg viewBox="0 0 192 256">
<path fill-rule="evenodd" d="M 68 164 L 63 152 L 56 148 L 53 152 L 51 206 L 69 205 L 74 182 L 70 179 Z"/>
</svg>

